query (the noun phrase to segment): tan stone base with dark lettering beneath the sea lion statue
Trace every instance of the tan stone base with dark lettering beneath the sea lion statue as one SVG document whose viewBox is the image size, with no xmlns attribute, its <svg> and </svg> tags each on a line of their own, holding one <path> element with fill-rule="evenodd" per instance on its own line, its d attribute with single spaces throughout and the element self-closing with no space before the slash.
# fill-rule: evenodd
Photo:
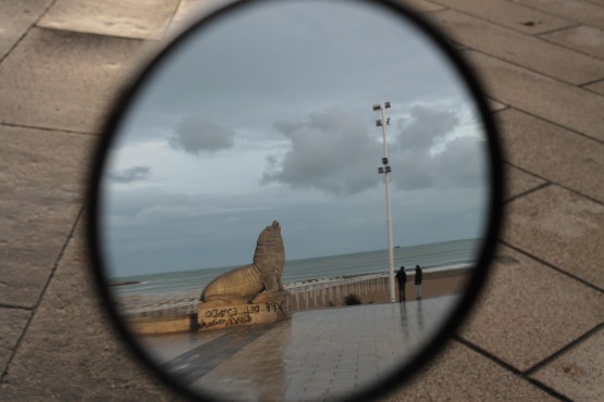
<svg viewBox="0 0 604 402">
<path fill-rule="evenodd" d="M 241 325 L 256 325 L 288 319 L 289 293 L 260 293 L 250 304 L 220 305 L 200 303 L 197 319 L 199 330 L 224 329 Z"/>
</svg>

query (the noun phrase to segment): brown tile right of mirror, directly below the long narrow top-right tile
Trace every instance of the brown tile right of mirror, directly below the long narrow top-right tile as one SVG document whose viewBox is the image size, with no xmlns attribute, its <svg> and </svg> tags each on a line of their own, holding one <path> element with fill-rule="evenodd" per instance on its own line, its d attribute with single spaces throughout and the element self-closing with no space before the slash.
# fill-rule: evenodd
<svg viewBox="0 0 604 402">
<path fill-rule="evenodd" d="M 604 141 L 604 97 L 476 51 L 464 55 L 500 102 Z"/>
</svg>

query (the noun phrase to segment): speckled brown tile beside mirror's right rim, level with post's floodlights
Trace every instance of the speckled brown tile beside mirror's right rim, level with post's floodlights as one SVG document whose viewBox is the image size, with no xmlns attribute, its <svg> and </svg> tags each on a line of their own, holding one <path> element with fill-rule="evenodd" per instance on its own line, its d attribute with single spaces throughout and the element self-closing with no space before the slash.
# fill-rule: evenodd
<svg viewBox="0 0 604 402">
<path fill-rule="evenodd" d="M 498 121 L 507 161 L 604 203 L 604 143 L 514 109 Z"/>
</svg>

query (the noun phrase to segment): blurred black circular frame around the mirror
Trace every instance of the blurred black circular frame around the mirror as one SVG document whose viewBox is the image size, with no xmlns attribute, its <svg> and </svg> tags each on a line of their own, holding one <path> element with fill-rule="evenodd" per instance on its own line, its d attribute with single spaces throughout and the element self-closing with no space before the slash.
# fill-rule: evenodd
<svg viewBox="0 0 604 402">
<path fill-rule="evenodd" d="M 181 384 L 176 378 L 170 376 L 162 372 L 157 363 L 145 353 L 139 344 L 134 341 L 132 334 L 125 327 L 123 321 L 120 318 L 112 297 L 108 290 L 108 278 L 106 276 L 106 260 L 102 252 L 100 251 L 100 236 L 99 236 L 99 186 L 104 172 L 106 162 L 108 154 L 110 152 L 110 147 L 115 140 L 118 128 L 124 118 L 124 115 L 128 113 L 128 105 L 135 99 L 139 90 L 141 90 L 145 85 L 147 85 L 152 79 L 152 74 L 165 60 L 168 60 L 174 51 L 184 46 L 187 39 L 197 32 L 204 29 L 209 23 L 219 22 L 223 16 L 226 16 L 233 10 L 243 10 L 246 8 L 254 7 L 257 3 L 266 3 L 270 1 L 279 2 L 279 0 L 245 0 L 237 1 L 231 4 L 226 4 L 219 10 L 213 11 L 209 15 L 204 16 L 200 21 L 188 27 L 181 35 L 178 35 L 171 43 L 169 43 L 159 54 L 141 71 L 141 73 L 126 87 L 122 93 L 116 98 L 114 109 L 107 121 L 104 126 L 104 136 L 98 142 L 97 151 L 93 160 L 90 176 L 88 179 L 88 200 L 89 206 L 87 209 L 87 241 L 88 250 L 90 252 L 94 277 L 96 279 L 97 290 L 102 300 L 102 304 L 107 305 L 107 313 L 110 317 L 111 323 L 118 330 L 119 336 L 126 342 L 128 349 L 134 353 L 134 355 L 144 362 L 145 366 L 151 368 L 153 374 L 161 378 L 165 384 L 170 385 L 175 390 L 180 391 L 182 394 L 197 401 L 212 401 L 215 395 L 202 394 L 198 392 L 193 392 L 190 389 Z M 480 251 L 480 256 L 478 259 L 478 264 L 473 268 L 471 278 L 466 285 L 466 291 L 458 302 L 457 306 L 454 309 L 453 313 L 445 319 L 444 324 L 441 326 L 440 331 L 432 338 L 432 340 L 424 347 L 420 353 L 405 364 L 400 364 L 398 367 L 392 370 L 392 373 L 384 379 L 375 382 L 374 385 L 368 387 L 365 390 L 360 390 L 355 394 L 349 394 L 347 401 L 368 401 L 375 399 L 377 397 L 399 387 L 403 382 L 408 381 L 414 374 L 417 374 L 421 368 L 426 367 L 427 363 L 431 361 L 432 357 L 440 352 L 446 342 L 454 336 L 455 331 L 459 328 L 464 318 L 466 318 L 470 312 L 473 302 L 485 281 L 489 266 L 495 256 L 495 249 L 500 229 L 503 219 L 503 175 L 504 171 L 502 167 L 502 150 L 500 145 L 500 139 L 496 130 L 496 126 L 493 117 L 491 116 L 491 111 L 486 99 L 484 98 L 482 86 L 474 77 L 468 63 L 459 55 L 459 52 L 454 50 L 449 41 L 439 33 L 439 30 L 430 23 L 428 23 L 423 17 L 417 13 L 412 13 L 407 10 L 403 4 L 395 1 L 389 0 L 354 0 L 362 1 L 372 4 L 375 8 L 385 9 L 387 12 L 397 15 L 402 21 L 414 24 L 418 30 L 424 33 L 432 42 L 446 54 L 448 61 L 455 68 L 457 73 L 466 81 L 470 93 L 473 97 L 484 129 L 486 131 L 488 141 L 486 150 L 489 154 L 489 179 L 490 179 L 490 193 L 489 193 L 489 210 L 486 213 L 486 229 L 484 235 L 484 240 L 482 242 L 482 248 Z"/>
</svg>

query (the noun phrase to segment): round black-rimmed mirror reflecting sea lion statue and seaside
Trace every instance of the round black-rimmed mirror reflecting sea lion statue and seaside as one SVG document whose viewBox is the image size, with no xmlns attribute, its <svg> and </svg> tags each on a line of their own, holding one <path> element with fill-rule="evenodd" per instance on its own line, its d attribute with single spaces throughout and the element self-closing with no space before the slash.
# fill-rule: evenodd
<svg viewBox="0 0 604 402">
<path fill-rule="evenodd" d="M 384 1 L 245 1 L 122 98 L 89 234 L 125 341 L 196 399 L 367 400 L 468 312 L 502 179 L 477 81 Z"/>
</svg>

